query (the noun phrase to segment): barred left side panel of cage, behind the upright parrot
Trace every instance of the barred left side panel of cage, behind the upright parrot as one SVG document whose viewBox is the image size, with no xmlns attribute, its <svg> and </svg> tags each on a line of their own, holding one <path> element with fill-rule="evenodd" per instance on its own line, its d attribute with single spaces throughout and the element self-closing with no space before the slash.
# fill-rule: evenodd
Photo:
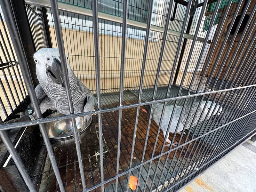
<svg viewBox="0 0 256 192">
<path fill-rule="evenodd" d="M 0 117 L 4 121 L 11 114 L 15 114 L 21 110 L 22 103 L 27 97 L 27 90 L 22 78 L 19 63 L 16 59 L 16 54 L 13 49 L 10 35 L 6 27 L 3 15 L 0 15 L 1 20 L 1 52 L 0 52 Z M 24 105 L 23 105 L 24 108 Z M 13 117 L 13 116 L 12 116 Z"/>
</svg>

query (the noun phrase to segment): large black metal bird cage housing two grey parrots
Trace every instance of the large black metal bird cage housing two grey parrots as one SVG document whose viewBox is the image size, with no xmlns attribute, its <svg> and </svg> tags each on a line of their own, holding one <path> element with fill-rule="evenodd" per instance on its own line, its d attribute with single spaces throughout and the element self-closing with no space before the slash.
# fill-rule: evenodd
<svg viewBox="0 0 256 192">
<path fill-rule="evenodd" d="M 29 79 L 33 71 L 25 64 L 26 38 L 35 52 L 63 50 L 97 106 L 89 112 L 92 124 L 81 150 L 52 147 L 42 124 L 81 114 L 37 114 L 35 121 L 0 125 L 0 172 L 15 167 L 11 155 L 20 159 L 15 162 L 24 190 L 131 191 L 135 178 L 135 191 L 175 191 L 255 133 L 255 1 L 20 2 L 24 9 L 17 13 L 17 4 L 1 1 L 2 122 L 32 110 L 28 92 L 40 110 Z M 18 15 L 27 18 L 26 38 Z M 155 121 L 162 108 L 160 114 L 142 110 L 158 103 L 180 110 L 178 117 L 171 111 L 169 119 L 161 118 L 167 131 L 177 122 L 169 146 Z M 219 115 L 210 112 L 217 106 Z"/>
</svg>

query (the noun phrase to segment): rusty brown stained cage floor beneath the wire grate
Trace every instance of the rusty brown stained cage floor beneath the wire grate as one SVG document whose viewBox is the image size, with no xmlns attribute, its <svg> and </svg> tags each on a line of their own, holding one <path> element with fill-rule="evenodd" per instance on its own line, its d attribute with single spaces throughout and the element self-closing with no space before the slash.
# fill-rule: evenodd
<svg viewBox="0 0 256 192">
<path fill-rule="evenodd" d="M 104 108 L 113 107 L 118 105 L 119 93 L 116 94 L 104 94 L 101 96 L 102 104 Z M 136 94 L 126 91 L 124 92 L 124 105 L 137 102 Z M 136 116 L 136 108 L 129 108 L 122 111 L 122 132 L 121 132 L 121 153 L 120 153 L 120 167 L 119 173 L 122 173 L 129 169 L 131 149 L 132 149 L 132 140 L 134 133 L 134 124 Z M 99 150 L 99 138 L 98 138 L 98 119 L 97 116 L 93 116 L 92 125 L 86 131 L 87 135 L 81 144 L 82 156 L 84 162 L 84 175 L 86 177 L 86 188 L 90 188 L 101 182 L 100 180 L 100 150 Z M 143 148 L 145 145 L 145 137 L 148 126 L 148 115 L 144 113 L 140 108 L 140 115 L 138 121 L 138 127 L 136 132 L 135 148 L 133 153 L 132 167 L 139 165 L 141 163 L 141 158 L 143 154 Z M 161 148 L 163 146 L 164 136 L 163 132 L 160 132 L 159 138 L 156 141 L 156 135 L 158 131 L 158 126 L 154 121 L 151 122 L 149 129 L 149 136 L 146 146 L 146 153 L 144 161 L 147 161 L 151 158 L 153 147 L 155 142 L 156 151 L 154 156 L 160 154 Z M 104 180 L 112 178 L 116 175 L 116 160 L 117 160 L 117 137 L 118 137 L 118 111 L 108 112 L 102 114 L 102 132 L 103 132 L 103 158 L 104 158 Z M 173 135 L 170 134 L 170 139 Z M 181 140 L 181 144 L 185 141 L 185 136 Z M 190 138 L 190 136 L 189 136 Z M 178 142 L 180 135 L 177 135 L 175 140 Z M 191 143 L 193 144 L 193 142 Z M 164 167 L 165 159 L 167 155 L 164 155 L 160 158 L 159 167 L 156 169 L 157 162 L 159 158 L 155 159 L 152 162 L 151 169 L 149 171 L 149 179 L 146 186 L 146 191 L 149 191 L 150 185 L 152 183 L 154 174 L 156 178 L 153 183 L 153 189 L 156 188 L 156 185 L 159 181 L 161 172 L 163 172 L 163 177 L 161 178 L 160 183 L 164 183 L 167 179 L 170 179 L 172 172 L 174 176 L 177 172 L 180 165 L 180 160 L 184 156 L 185 150 L 189 147 L 188 156 L 190 152 L 191 144 L 188 144 L 184 147 L 184 150 L 180 152 L 180 149 L 175 153 L 172 151 L 169 155 L 166 166 Z M 168 148 L 164 148 L 164 152 Z M 59 170 L 64 182 L 64 186 L 67 191 L 82 191 L 81 178 L 79 173 L 79 166 L 77 163 L 76 150 L 75 147 L 69 148 L 55 148 L 55 156 L 59 164 Z M 181 154 L 180 154 L 181 153 Z M 194 153 L 194 151 L 193 151 Z M 193 154 L 192 153 L 192 154 Z M 180 157 L 180 158 L 179 158 Z M 186 160 L 185 157 L 185 160 Z M 179 159 L 178 159 L 179 158 Z M 173 162 L 172 162 L 173 160 Z M 168 168 L 172 162 L 172 167 L 170 172 Z M 183 164 L 185 163 L 182 162 Z M 176 167 L 174 168 L 174 165 Z M 183 165 L 186 166 L 186 165 Z M 183 168 L 181 166 L 181 169 Z M 46 166 L 47 167 L 47 166 Z M 143 165 L 141 172 L 141 179 L 139 185 L 139 191 L 143 191 L 145 185 L 145 179 L 148 173 L 149 163 Z M 138 177 L 139 169 L 132 171 L 131 175 Z M 46 177 L 45 175 L 46 174 Z M 56 185 L 56 178 L 53 174 L 51 167 L 48 166 L 47 169 L 44 169 L 44 191 L 59 191 Z M 125 174 L 119 177 L 118 180 L 118 191 L 126 191 L 127 178 L 128 174 Z M 46 181 L 45 181 L 46 180 Z M 41 188 L 41 187 L 40 187 Z M 104 185 L 105 191 L 114 191 L 115 180 Z M 129 189 L 131 191 L 131 189 Z M 97 188 L 95 191 L 100 191 L 100 188 Z"/>
</svg>

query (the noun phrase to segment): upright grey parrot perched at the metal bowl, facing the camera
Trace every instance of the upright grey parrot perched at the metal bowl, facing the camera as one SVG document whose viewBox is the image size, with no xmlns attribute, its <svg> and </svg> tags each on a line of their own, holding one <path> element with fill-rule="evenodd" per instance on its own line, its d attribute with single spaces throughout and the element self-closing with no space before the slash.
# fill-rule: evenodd
<svg viewBox="0 0 256 192">
<path fill-rule="evenodd" d="M 75 76 L 68 64 L 68 80 L 70 84 L 71 97 L 75 113 L 94 110 L 94 99 L 92 92 Z M 64 115 L 69 114 L 67 94 L 63 82 L 63 74 L 60 64 L 60 53 L 58 49 L 44 48 L 34 54 L 36 63 L 36 76 L 39 84 L 35 88 L 36 97 L 42 113 L 47 109 L 57 110 Z M 35 112 L 33 114 L 35 116 Z M 84 121 L 90 119 L 90 115 L 84 116 Z M 13 119 L 12 122 L 20 122 L 24 117 Z M 80 117 L 76 118 L 78 124 Z M 6 122 L 7 123 L 7 122 Z"/>
</svg>

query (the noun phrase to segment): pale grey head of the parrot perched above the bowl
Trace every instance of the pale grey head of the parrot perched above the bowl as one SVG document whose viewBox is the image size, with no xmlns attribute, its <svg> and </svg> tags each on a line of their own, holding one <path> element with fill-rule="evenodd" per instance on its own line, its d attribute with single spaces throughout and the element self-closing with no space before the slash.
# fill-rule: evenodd
<svg viewBox="0 0 256 192">
<path fill-rule="evenodd" d="M 66 56 L 68 74 L 72 70 L 68 64 L 68 57 Z M 34 54 L 34 61 L 36 63 L 36 76 L 38 80 L 40 78 L 48 79 L 54 84 L 58 84 L 64 88 L 63 74 L 60 64 L 60 53 L 58 49 L 44 48 L 38 50 Z"/>
</svg>

